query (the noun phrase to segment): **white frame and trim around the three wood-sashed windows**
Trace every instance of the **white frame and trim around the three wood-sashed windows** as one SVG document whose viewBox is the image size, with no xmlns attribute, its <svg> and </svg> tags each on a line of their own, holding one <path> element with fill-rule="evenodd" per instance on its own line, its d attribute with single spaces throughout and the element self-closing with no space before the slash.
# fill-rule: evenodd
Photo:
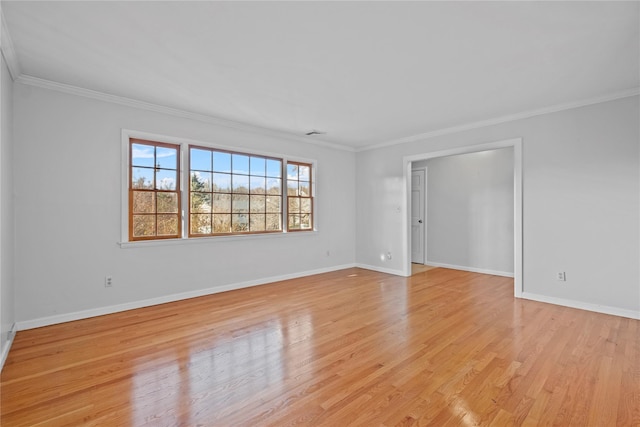
<svg viewBox="0 0 640 427">
<path fill-rule="evenodd" d="M 317 216 L 317 161 L 315 159 L 303 158 L 298 156 L 287 156 L 281 153 L 266 152 L 262 150 L 255 150 L 252 148 L 240 147 L 240 146 L 228 146 L 218 143 L 203 142 L 200 140 L 192 140 L 187 138 L 178 138 L 172 136 L 166 136 L 161 134 L 154 134 L 130 129 L 122 129 L 121 131 L 121 236 L 118 242 L 122 248 L 129 247 L 141 247 L 141 246 L 157 246 L 157 245 L 173 245 L 173 244 L 190 244 L 190 243 L 206 243 L 213 241 L 229 241 L 236 239 L 251 239 L 251 238 L 279 238 L 285 236 L 294 235 L 306 235 L 306 233 L 299 233 L 299 231 L 306 232 L 318 232 L 318 218 Z M 157 238 L 152 236 L 147 239 L 132 240 L 129 234 L 130 230 L 130 196 L 129 196 L 129 182 L 131 173 L 131 143 L 132 139 L 138 139 L 143 141 L 149 141 L 152 143 L 176 145 L 180 147 L 179 160 L 178 160 L 178 175 L 179 185 L 177 191 L 179 192 L 179 236 L 178 237 L 162 237 Z M 273 158 L 282 161 L 282 205 L 280 212 L 281 230 L 274 231 L 258 231 L 258 232 L 237 232 L 237 233 L 221 233 L 212 235 L 195 235 L 190 236 L 190 159 L 189 148 L 204 148 L 208 150 L 231 152 L 248 156 L 257 156 L 265 158 Z M 313 198 L 312 204 L 312 227 L 304 230 L 289 230 L 288 229 L 288 199 L 287 199 L 287 176 L 286 168 L 288 163 L 303 163 L 311 165 L 311 196 Z M 186 183 L 186 185 L 185 185 Z"/>
</svg>

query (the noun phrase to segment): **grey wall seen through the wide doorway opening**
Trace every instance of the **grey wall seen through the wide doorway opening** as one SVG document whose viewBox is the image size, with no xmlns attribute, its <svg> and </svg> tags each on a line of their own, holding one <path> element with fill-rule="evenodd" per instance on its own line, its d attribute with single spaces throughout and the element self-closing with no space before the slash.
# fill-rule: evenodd
<svg viewBox="0 0 640 427">
<path fill-rule="evenodd" d="M 513 275 L 513 148 L 427 167 L 427 264 Z"/>
</svg>

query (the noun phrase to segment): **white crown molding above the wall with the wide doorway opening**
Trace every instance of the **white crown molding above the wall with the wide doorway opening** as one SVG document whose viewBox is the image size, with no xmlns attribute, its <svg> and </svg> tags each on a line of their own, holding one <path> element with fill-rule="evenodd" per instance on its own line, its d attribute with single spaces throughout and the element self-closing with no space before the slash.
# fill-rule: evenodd
<svg viewBox="0 0 640 427">
<path fill-rule="evenodd" d="M 361 147 L 356 151 L 361 152 L 361 151 L 375 150 L 377 148 L 391 147 L 393 145 L 423 141 L 425 139 L 435 138 L 437 136 L 449 135 L 452 133 L 463 132 L 466 130 L 479 129 L 479 128 L 493 126 L 501 123 L 512 122 L 515 120 L 528 119 L 530 117 L 540 116 L 543 114 L 556 113 L 559 111 L 571 110 L 573 108 L 579 108 L 579 107 L 586 107 L 588 105 L 600 104 L 602 102 L 614 101 L 616 99 L 628 98 L 628 97 L 637 96 L 637 95 L 640 95 L 640 87 L 636 87 L 636 88 L 625 90 L 625 91 L 615 92 L 609 95 L 604 95 L 596 98 L 589 98 L 581 101 L 569 102 L 566 104 L 557 104 L 550 107 L 540 108 L 537 110 L 523 111 L 521 113 L 510 114 L 508 116 L 496 117 L 493 119 L 487 119 L 487 120 L 467 123 L 459 126 L 452 126 L 448 128 L 438 129 L 431 132 L 408 136 L 405 138 L 381 142 L 379 144 L 368 145 L 366 147 Z"/>
</svg>

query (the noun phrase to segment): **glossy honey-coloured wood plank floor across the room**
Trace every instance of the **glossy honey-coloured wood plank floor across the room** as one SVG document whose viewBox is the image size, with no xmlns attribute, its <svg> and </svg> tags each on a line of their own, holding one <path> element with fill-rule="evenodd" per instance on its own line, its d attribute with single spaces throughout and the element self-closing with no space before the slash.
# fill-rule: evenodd
<svg viewBox="0 0 640 427">
<path fill-rule="evenodd" d="M 10 426 L 640 426 L 640 321 L 348 269 L 19 332 Z"/>
</svg>

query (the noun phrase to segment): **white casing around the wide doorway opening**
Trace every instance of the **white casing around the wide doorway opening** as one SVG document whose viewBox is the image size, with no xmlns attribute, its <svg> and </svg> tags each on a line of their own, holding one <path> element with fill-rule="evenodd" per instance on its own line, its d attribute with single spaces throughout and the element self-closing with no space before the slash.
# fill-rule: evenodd
<svg viewBox="0 0 640 427">
<path fill-rule="evenodd" d="M 403 157 L 404 179 L 404 211 L 402 235 L 404 276 L 411 276 L 411 164 L 420 160 L 434 159 L 437 157 L 453 156 L 456 154 L 477 153 L 479 151 L 497 150 L 513 147 L 513 252 L 514 252 L 514 280 L 513 291 L 516 298 L 522 297 L 524 282 L 522 274 L 522 138 L 506 139 L 483 144 L 466 145 L 440 151 L 426 152 Z M 426 199 L 426 197 L 425 197 Z M 426 236 L 425 236 L 426 240 Z"/>
</svg>

